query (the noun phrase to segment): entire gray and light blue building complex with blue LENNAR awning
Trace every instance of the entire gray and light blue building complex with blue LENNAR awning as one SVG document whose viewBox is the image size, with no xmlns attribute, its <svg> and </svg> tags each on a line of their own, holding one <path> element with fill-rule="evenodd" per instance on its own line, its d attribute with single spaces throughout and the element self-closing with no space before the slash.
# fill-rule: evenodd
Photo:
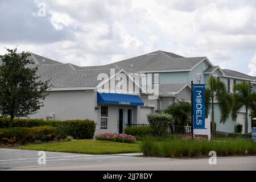
<svg viewBox="0 0 256 182">
<path fill-rule="evenodd" d="M 147 114 L 164 110 L 178 101 L 191 102 L 191 81 L 207 84 L 209 77 L 214 76 L 226 83 L 228 92 L 233 92 L 233 85 L 241 81 L 249 81 L 254 92 L 256 86 L 255 77 L 221 69 L 207 57 L 183 57 L 165 51 L 90 67 L 63 64 L 34 53 L 31 53 L 30 59 L 35 64 L 29 66 L 38 67 L 38 75 L 43 81 L 50 80 L 51 87 L 47 90 L 49 95 L 44 100 L 44 106 L 28 117 L 93 119 L 97 122 L 96 133 L 122 133 L 127 124 L 148 124 Z M 113 69 L 114 74 L 111 73 Z M 136 82 L 130 73 L 144 74 L 145 77 Z M 98 79 L 102 74 L 108 79 Z M 121 75 L 125 75 L 125 84 L 120 84 Z M 152 82 L 153 88 L 158 86 L 159 93 L 154 99 L 150 98 L 151 94 L 143 86 L 143 81 Z M 109 86 L 107 90 L 105 84 Z M 126 92 L 117 93 L 117 89 L 121 88 Z M 134 92 L 130 93 L 129 88 Z M 102 89 L 105 91 L 102 92 Z M 237 123 L 244 123 L 244 110 L 238 114 L 237 121 L 232 121 L 230 117 L 225 124 L 220 123 L 218 104 L 214 105 L 217 130 L 232 133 Z M 247 117 L 251 121 L 250 115 Z M 249 123 L 249 132 L 250 126 Z"/>
</svg>

